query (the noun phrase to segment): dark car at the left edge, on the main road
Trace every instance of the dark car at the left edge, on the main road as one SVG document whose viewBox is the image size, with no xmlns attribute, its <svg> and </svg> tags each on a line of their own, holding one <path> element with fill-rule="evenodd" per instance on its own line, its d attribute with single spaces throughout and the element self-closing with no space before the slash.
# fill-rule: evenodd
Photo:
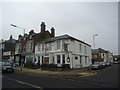
<svg viewBox="0 0 120 90">
<path fill-rule="evenodd" d="M 14 73 L 13 65 L 9 62 L 2 62 L 2 73 L 11 72 Z"/>
</svg>

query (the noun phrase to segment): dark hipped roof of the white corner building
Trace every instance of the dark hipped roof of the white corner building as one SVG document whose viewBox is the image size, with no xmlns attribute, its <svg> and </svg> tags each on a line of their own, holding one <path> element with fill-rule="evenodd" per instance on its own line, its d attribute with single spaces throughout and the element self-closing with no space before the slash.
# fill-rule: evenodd
<svg viewBox="0 0 120 90">
<path fill-rule="evenodd" d="M 42 41 L 40 41 L 39 43 L 48 43 L 48 42 L 53 42 L 53 41 L 61 40 L 61 39 L 72 39 L 72 40 L 76 40 L 76 41 L 79 41 L 79 42 L 81 42 L 81 43 L 84 43 L 84 44 L 86 44 L 86 45 L 88 45 L 88 46 L 91 46 L 91 45 L 89 45 L 89 44 L 87 44 L 87 43 L 85 43 L 85 42 L 83 42 L 83 41 L 81 41 L 81 40 L 79 40 L 79 39 L 76 39 L 76 38 L 74 38 L 74 37 L 71 37 L 71 36 L 69 36 L 69 35 L 67 35 L 67 34 L 61 35 L 61 36 L 57 36 L 57 37 L 52 37 L 52 38 L 49 38 L 49 39 L 46 39 L 46 40 L 42 40 Z"/>
</svg>

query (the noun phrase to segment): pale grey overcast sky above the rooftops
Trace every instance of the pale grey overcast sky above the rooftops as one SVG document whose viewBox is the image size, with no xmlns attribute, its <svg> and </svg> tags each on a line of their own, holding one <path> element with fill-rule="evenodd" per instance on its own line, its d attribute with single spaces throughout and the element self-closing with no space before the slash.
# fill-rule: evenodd
<svg viewBox="0 0 120 90">
<path fill-rule="evenodd" d="M 117 2 L 38 2 L 0 4 L 2 12 L 2 37 L 10 35 L 18 39 L 22 29 L 11 27 L 15 24 L 25 28 L 26 33 L 34 29 L 40 32 L 42 21 L 46 29 L 55 28 L 56 36 L 68 34 L 95 47 L 118 53 L 118 3 Z M 1 27 L 0 27 L 1 28 Z M 1 33 L 1 32 L 0 32 Z"/>
</svg>

